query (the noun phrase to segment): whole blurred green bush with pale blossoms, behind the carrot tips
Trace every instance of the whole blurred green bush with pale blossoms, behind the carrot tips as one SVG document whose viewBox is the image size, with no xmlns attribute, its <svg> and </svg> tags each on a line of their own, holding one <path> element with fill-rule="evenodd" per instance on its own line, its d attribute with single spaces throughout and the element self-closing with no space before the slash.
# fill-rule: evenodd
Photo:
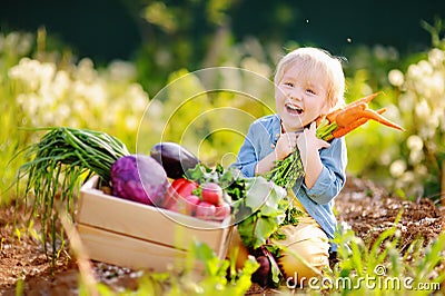
<svg viewBox="0 0 445 296">
<path fill-rule="evenodd" d="M 406 129 L 394 132 L 369 122 L 363 131 L 353 132 L 346 139 L 348 149 L 362 152 L 349 152 L 348 170 L 403 197 L 444 200 L 445 39 L 441 39 L 441 21 L 424 27 L 432 33 L 431 50 L 395 62 L 398 55 L 394 49 L 375 48 L 375 55 L 359 49 L 355 58 L 360 63 L 353 60 L 347 67 L 347 71 L 354 72 L 348 78 L 348 96 L 368 89 L 383 90 L 374 103 L 389 107 L 385 116 Z M 363 155 L 367 155 L 366 159 Z"/>
</svg>

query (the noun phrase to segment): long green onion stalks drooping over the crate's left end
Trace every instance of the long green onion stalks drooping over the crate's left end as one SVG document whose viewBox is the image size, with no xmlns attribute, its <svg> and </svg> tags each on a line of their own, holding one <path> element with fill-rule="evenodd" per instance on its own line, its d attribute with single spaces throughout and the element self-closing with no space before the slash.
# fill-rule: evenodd
<svg viewBox="0 0 445 296">
<path fill-rule="evenodd" d="M 73 215 L 73 198 L 82 180 L 96 174 L 109 184 L 112 164 L 129 151 L 119 139 L 101 131 L 68 127 L 31 130 L 47 132 L 19 151 L 32 160 L 20 167 L 17 182 L 26 179 L 24 199 L 33 196 L 30 218 L 40 216 L 43 248 L 48 254 L 47 236 L 51 237 L 55 263 L 59 207 Z"/>
</svg>

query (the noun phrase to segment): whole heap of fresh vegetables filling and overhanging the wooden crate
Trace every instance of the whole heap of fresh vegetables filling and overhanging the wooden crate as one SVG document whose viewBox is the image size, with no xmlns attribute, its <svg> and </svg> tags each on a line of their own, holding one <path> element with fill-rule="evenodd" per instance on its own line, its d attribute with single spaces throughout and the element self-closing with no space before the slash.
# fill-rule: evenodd
<svg viewBox="0 0 445 296">
<path fill-rule="evenodd" d="M 120 140 L 100 131 L 39 130 L 47 131 L 41 140 L 20 151 L 30 161 L 18 181 L 26 179 L 24 196 L 34 197 L 31 218 L 40 217 L 43 246 L 52 243 L 53 259 L 59 213 L 73 216 L 76 193 L 91 175 L 99 176 L 99 188 L 118 198 L 236 223 L 248 246 L 264 244 L 285 218 L 281 187 L 260 176 L 245 178 L 235 168 L 210 169 L 179 144 L 161 142 L 150 155 L 131 155 Z"/>
</svg>

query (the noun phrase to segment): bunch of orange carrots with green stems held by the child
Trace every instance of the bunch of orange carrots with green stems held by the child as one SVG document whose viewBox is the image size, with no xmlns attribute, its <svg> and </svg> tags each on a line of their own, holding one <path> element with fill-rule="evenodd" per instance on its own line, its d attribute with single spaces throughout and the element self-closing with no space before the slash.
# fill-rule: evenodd
<svg viewBox="0 0 445 296">
<path fill-rule="evenodd" d="M 368 103 L 378 95 L 379 92 L 375 92 L 360 98 L 344 108 L 336 109 L 327 116 L 319 118 L 316 122 L 317 137 L 326 141 L 340 138 L 363 126 L 368 120 L 375 120 L 387 127 L 404 130 L 403 127 L 382 116 L 386 111 L 385 108 L 379 110 L 369 109 Z M 304 175 L 301 159 L 298 149 L 295 148 L 294 152 L 276 162 L 275 167 L 266 175 L 266 178 L 288 189 L 293 188 L 297 179 L 304 177 Z"/>
</svg>

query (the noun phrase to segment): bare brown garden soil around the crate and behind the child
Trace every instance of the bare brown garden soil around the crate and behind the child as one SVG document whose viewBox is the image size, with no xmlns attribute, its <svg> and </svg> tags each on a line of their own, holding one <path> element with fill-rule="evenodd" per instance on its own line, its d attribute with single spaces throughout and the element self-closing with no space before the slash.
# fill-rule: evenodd
<svg viewBox="0 0 445 296">
<path fill-rule="evenodd" d="M 418 237 L 429 244 L 445 228 L 445 209 L 429 199 L 408 201 L 390 197 L 384 188 L 356 178 L 348 178 L 336 199 L 336 209 L 338 220 L 347 223 L 367 243 L 394 227 L 403 210 L 396 224 L 402 250 Z M 38 235 L 27 231 L 26 220 L 22 209 L 16 211 L 13 205 L 0 207 L 0 295 L 16 295 L 17 288 L 26 295 L 78 295 L 79 268 L 69 248 L 62 248 L 52 269 Z M 135 270 L 103 263 L 91 266 L 96 280 L 113 290 L 137 287 L 140 274 Z M 253 287 L 250 292 L 256 290 Z"/>
</svg>

